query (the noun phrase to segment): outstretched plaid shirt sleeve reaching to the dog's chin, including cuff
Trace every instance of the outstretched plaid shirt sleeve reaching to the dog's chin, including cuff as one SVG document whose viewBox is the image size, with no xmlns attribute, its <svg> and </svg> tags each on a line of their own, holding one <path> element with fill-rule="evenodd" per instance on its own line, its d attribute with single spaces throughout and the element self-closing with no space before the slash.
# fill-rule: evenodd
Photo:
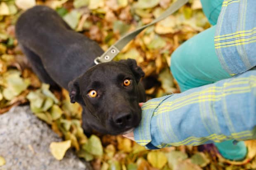
<svg viewBox="0 0 256 170">
<path fill-rule="evenodd" d="M 256 138 L 256 70 L 149 100 L 135 141 L 148 149 Z"/>
</svg>

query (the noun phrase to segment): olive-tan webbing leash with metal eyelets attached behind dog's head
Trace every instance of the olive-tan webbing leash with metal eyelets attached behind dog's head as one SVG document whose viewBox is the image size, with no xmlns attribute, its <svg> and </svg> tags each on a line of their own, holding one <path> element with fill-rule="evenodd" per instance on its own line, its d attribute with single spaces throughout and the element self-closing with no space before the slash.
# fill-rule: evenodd
<svg viewBox="0 0 256 170">
<path fill-rule="evenodd" d="M 158 21 L 161 21 L 162 19 L 165 19 L 167 16 L 173 14 L 175 11 L 177 11 L 180 7 L 185 5 L 189 0 L 177 0 L 174 2 L 168 9 L 166 9 L 163 14 L 161 14 L 158 18 L 154 19 L 151 23 L 142 26 L 140 28 L 137 28 L 131 33 L 128 33 L 127 35 L 123 36 L 120 40 L 118 40 L 114 45 L 111 45 L 109 49 L 107 49 L 106 52 L 104 52 L 100 57 L 95 58 L 94 63 L 97 65 L 99 63 L 106 63 L 109 61 L 112 61 L 117 54 L 123 49 L 123 47 L 130 42 L 130 40 L 133 40 L 134 37 L 136 37 L 142 30 L 147 28 L 148 26 L 152 26 L 153 24 L 157 23 Z"/>
</svg>

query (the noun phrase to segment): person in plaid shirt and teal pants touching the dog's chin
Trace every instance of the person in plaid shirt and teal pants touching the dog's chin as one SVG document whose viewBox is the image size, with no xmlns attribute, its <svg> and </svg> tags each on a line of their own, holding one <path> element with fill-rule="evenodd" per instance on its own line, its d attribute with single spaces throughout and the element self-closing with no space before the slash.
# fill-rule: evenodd
<svg viewBox="0 0 256 170">
<path fill-rule="evenodd" d="M 213 26 L 171 56 L 182 93 L 145 102 L 140 125 L 124 136 L 148 149 L 214 143 L 239 161 L 244 140 L 256 139 L 256 1 L 201 4 Z"/>
</svg>

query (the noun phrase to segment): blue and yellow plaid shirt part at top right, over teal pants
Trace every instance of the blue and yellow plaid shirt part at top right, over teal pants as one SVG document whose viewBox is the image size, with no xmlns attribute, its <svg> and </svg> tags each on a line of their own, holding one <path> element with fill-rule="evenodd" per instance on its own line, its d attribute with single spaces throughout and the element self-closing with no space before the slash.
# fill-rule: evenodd
<svg viewBox="0 0 256 170">
<path fill-rule="evenodd" d="M 231 75 L 256 65 L 256 0 L 224 0 L 214 37 L 222 67 Z"/>
</svg>

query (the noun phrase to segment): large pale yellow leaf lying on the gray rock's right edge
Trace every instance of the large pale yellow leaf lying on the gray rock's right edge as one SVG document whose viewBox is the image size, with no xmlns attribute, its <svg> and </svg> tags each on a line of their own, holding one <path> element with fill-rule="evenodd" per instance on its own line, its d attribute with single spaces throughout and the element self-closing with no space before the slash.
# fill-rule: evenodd
<svg viewBox="0 0 256 170">
<path fill-rule="evenodd" d="M 62 160 L 66 151 L 71 147 L 71 140 L 66 140 L 63 142 L 52 142 L 50 144 L 50 151 L 52 156 L 57 160 Z"/>
</svg>

